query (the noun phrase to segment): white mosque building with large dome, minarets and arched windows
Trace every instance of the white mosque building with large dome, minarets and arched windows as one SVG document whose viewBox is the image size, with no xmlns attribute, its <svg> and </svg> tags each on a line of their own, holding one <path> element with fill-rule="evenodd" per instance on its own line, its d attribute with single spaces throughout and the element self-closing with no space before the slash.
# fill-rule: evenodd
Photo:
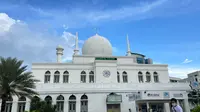
<svg viewBox="0 0 200 112">
<path fill-rule="evenodd" d="M 58 46 L 57 62 L 32 64 L 33 75 L 41 80 L 39 97 L 57 104 L 59 112 L 170 112 L 171 98 L 190 112 L 189 84 L 170 83 L 168 65 L 132 53 L 128 37 L 126 56 L 113 56 L 109 40 L 98 34 L 85 41 L 82 54 L 78 35 L 75 43 L 72 62 L 61 62 L 64 48 Z M 6 112 L 23 112 L 30 100 L 13 97 L 7 106 Z"/>
</svg>

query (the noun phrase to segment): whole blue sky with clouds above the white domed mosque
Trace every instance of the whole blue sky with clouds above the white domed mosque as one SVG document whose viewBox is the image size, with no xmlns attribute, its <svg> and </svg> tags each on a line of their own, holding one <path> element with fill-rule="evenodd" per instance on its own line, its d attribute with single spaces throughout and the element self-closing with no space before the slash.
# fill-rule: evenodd
<svg viewBox="0 0 200 112">
<path fill-rule="evenodd" d="M 0 56 L 31 66 L 72 59 L 75 33 L 79 47 L 89 37 L 106 37 L 113 55 L 131 51 L 168 64 L 169 75 L 185 78 L 200 70 L 199 0 L 0 0 Z M 95 30 L 97 29 L 97 30 Z"/>
</svg>

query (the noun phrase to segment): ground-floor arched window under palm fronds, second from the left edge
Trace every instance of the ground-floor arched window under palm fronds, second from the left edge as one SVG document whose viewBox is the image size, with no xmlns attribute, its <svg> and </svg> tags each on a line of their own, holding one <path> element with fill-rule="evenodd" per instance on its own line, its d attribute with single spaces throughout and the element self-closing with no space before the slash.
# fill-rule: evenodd
<svg viewBox="0 0 200 112">
<path fill-rule="evenodd" d="M 26 106 L 26 98 L 24 96 L 21 96 L 18 100 L 18 109 L 17 112 L 24 112 Z"/>
</svg>

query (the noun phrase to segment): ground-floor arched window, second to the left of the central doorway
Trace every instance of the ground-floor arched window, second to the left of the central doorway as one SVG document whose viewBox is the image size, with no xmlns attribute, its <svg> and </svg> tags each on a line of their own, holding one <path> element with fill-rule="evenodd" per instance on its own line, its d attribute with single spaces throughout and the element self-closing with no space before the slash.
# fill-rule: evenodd
<svg viewBox="0 0 200 112">
<path fill-rule="evenodd" d="M 71 95 L 69 97 L 69 111 L 68 112 L 76 112 L 76 97 Z"/>
</svg>

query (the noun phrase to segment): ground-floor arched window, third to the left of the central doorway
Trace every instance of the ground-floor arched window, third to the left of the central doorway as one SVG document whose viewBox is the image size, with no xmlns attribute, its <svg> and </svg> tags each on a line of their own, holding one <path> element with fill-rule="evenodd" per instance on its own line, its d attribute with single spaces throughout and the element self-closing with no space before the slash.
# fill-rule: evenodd
<svg viewBox="0 0 200 112">
<path fill-rule="evenodd" d="M 59 95 L 56 99 L 56 110 L 57 112 L 64 112 L 64 97 Z"/>
</svg>

